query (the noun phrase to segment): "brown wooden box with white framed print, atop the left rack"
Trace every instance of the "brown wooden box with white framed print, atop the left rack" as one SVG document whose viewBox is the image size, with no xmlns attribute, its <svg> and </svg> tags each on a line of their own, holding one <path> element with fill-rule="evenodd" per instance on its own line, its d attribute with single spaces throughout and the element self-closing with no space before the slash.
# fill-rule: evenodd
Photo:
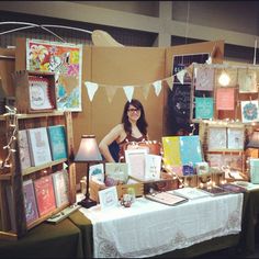
<svg viewBox="0 0 259 259">
<path fill-rule="evenodd" d="M 43 113 L 56 110 L 55 72 L 16 71 L 15 105 L 19 113 Z"/>
</svg>

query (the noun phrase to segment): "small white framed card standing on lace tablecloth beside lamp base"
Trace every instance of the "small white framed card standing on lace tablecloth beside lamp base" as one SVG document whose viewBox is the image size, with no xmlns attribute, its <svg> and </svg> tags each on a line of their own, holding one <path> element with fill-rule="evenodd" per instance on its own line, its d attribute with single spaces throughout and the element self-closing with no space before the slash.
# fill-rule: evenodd
<svg viewBox="0 0 259 259">
<path fill-rule="evenodd" d="M 110 187 L 99 191 L 99 201 L 101 210 L 116 207 L 119 204 L 116 187 Z"/>
</svg>

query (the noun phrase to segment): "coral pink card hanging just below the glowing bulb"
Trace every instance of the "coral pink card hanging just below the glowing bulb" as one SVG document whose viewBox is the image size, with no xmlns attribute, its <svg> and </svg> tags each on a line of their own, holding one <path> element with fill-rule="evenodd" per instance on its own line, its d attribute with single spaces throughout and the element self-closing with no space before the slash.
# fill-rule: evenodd
<svg viewBox="0 0 259 259">
<path fill-rule="evenodd" d="M 235 110 L 235 89 L 217 88 L 216 90 L 216 110 Z"/>
</svg>

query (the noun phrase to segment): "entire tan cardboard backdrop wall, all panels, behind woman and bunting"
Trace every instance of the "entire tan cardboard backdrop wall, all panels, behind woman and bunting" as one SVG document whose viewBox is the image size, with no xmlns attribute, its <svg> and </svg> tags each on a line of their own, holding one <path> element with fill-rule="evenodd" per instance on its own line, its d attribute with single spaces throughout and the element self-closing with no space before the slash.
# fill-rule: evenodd
<svg viewBox="0 0 259 259">
<path fill-rule="evenodd" d="M 224 42 L 207 42 L 176 47 L 94 47 L 83 46 L 82 57 L 82 112 L 74 112 L 74 142 L 77 151 L 83 134 L 94 134 L 98 143 L 117 123 L 121 122 L 126 97 L 119 89 L 110 103 L 104 87 L 100 87 L 90 102 L 85 81 L 109 86 L 144 86 L 171 76 L 172 56 L 181 54 L 212 53 L 218 46 L 214 61 L 223 59 Z M 25 69 L 25 40 L 18 40 L 15 69 Z M 149 124 L 150 139 L 161 140 L 165 128 L 165 103 L 168 87 L 162 87 L 159 97 L 154 88 L 147 100 L 142 88 L 135 88 L 134 98 L 143 103 Z M 77 165 L 77 183 L 83 174 L 85 167 Z"/>
</svg>

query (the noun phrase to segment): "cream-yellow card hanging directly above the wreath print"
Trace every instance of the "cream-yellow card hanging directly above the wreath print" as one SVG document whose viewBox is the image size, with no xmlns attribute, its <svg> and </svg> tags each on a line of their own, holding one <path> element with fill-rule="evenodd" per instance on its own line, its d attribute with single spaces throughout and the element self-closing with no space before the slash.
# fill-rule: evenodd
<svg viewBox="0 0 259 259">
<path fill-rule="evenodd" d="M 257 85 L 257 70 L 251 69 L 238 69 L 238 90 L 241 93 L 246 92 L 258 92 Z"/>
</svg>

